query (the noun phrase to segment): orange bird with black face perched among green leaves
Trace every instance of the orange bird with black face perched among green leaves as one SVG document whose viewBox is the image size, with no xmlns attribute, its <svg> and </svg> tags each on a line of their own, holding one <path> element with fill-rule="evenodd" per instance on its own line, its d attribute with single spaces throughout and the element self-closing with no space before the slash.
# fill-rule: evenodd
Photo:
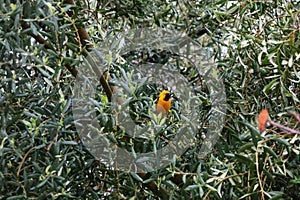
<svg viewBox="0 0 300 200">
<path fill-rule="evenodd" d="M 156 114 L 160 114 L 165 117 L 170 108 L 171 108 L 171 97 L 172 97 L 172 93 L 169 92 L 168 90 L 163 90 L 157 99 L 157 103 L 156 103 Z"/>
</svg>

